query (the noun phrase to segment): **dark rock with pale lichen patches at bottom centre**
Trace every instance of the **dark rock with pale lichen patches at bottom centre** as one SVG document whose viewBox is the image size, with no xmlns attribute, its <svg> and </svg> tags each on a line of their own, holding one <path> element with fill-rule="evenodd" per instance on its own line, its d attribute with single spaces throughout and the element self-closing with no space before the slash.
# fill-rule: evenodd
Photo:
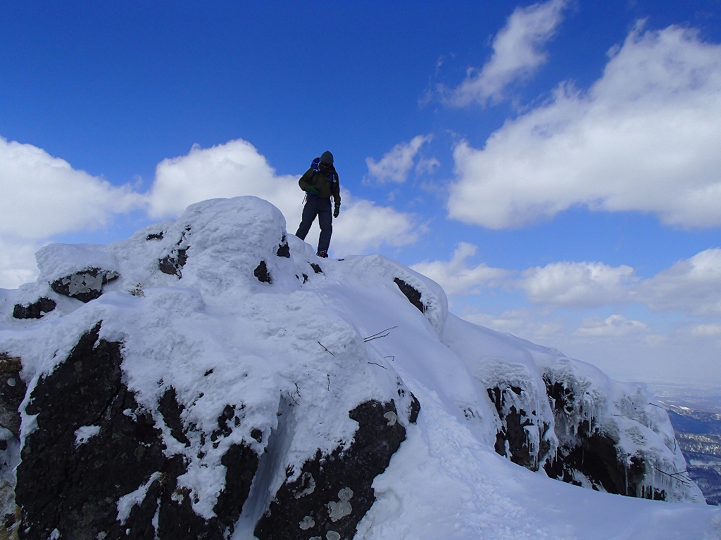
<svg viewBox="0 0 721 540">
<path fill-rule="evenodd" d="M 397 421 L 393 401 L 365 402 L 348 414 L 358 422 L 353 443 L 330 455 L 318 451 L 296 480 L 286 480 L 255 527 L 260 540 L 355 536 L 358 522 L 376 500 L 373 478 L 388 467 L 405 440 L 405 428 Z"/>
</svg>

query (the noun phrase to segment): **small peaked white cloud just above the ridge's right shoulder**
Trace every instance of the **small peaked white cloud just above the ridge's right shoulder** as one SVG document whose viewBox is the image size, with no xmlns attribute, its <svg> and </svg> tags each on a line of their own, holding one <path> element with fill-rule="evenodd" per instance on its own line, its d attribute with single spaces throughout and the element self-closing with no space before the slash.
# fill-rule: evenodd
<svg viewBox="0 0 721 540">
<path fill-rule="evenodd" d="M 510 274 L 507 270 L 491 268 L 484 263 L 467 266 L 466 259 L 476 250 L 477 246 L 461 242 L 450 261 L 425 261 L 414 264 L 412 269 L 433 279 L 447 294 L 474 294 L 479 292 L 479 287 L 495 285 Z"/>
</svg>

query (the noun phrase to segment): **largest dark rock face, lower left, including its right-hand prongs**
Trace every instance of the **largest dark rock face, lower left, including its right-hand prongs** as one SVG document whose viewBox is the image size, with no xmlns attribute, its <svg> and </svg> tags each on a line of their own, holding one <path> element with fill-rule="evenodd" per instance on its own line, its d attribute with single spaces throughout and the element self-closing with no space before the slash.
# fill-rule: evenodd
<svg viewBox="0 0 721 540">
<path fill-rule="evenodd" d="M 37 429 L 25 439 L 17 468 L 19 538 L 46 540 L 57 529 L 67 539 L 224 539 L 247 498 L 257 456 L 231 446 L 221 459 L 228 476 L 218 517 L 195 514 L 190 494 L 177 486 L 187 471 L 183 456 L 164 455 L 162 432 L 122 382 L 120 343 L 99 339 L 99 328 L 32 390 L 26 413 L 37 415 Z M 161 408 L 173 436 L 178 430 L 184 436 L 174 390 L 165 392 Z M 143 486 L 146 497 L 120 523 L 118 500 Z"/>
</svg>

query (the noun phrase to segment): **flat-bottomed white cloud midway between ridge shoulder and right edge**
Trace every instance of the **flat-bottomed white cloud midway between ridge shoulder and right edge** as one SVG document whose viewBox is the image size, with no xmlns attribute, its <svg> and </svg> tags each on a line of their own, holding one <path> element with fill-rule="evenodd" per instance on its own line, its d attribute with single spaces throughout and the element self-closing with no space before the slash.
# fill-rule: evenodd
<svg viewBox="0 0 721 540">
<path fill-rule="evenodd" d="M 595 307 L 625 302 L 633 279 L 630 266 L 563 261 L 523 271 L 516 287 L 534 304 Z"/>
</svg>

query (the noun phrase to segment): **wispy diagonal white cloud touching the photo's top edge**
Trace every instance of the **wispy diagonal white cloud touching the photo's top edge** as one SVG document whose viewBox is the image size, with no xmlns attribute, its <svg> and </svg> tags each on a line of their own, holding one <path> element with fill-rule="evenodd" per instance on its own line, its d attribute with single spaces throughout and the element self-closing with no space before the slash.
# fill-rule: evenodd
<svg viewBox="0 0 721 540">
<path fill-rule="evenodd" d="M 542 48 L 553 37 L 565 5 L 565 0 L 550 0 L 517 7 L 495 36 L 490 60 L 480 71 L 469 68 L 465 80 L 447 92 L 446 102 L 465 107 L 472 102 L 486 104 L 488 99 L 494 102 L 503 99 L 506 86 L 516 79 L 528 78 L 546 62 Z"/>
</svg>

